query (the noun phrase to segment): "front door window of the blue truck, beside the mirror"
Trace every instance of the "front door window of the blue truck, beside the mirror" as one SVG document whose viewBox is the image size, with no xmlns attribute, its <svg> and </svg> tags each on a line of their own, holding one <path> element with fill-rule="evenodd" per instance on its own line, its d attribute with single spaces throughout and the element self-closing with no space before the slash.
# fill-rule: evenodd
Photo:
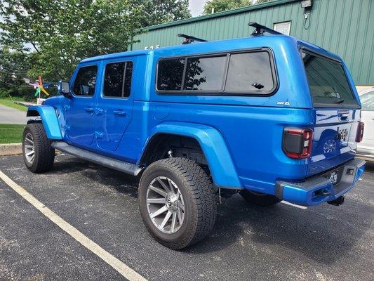
<svg viewBox="0 0 374 281">
<path fill-rule="evenodd" d="M 73 93 L 76 96 L 93 96 L 95 93 L 96 75 L 98 67 L 91 65 L 81 67 L 76 74 L 73 86 Z"/>
</svg>

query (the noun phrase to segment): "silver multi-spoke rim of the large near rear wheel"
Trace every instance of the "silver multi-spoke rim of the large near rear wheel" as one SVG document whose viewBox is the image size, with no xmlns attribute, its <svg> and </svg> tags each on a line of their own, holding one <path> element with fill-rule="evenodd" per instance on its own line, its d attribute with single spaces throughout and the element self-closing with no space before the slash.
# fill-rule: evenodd
<svg viewBox="0 0 374 281">
<path fill-rule="evenodd" d="M 147 189 L 147 210 L 154 226 L 163 233 L 176 233 L 185 221 L 185 202 L 178 186 L 158 176 Z"/>
</svg>

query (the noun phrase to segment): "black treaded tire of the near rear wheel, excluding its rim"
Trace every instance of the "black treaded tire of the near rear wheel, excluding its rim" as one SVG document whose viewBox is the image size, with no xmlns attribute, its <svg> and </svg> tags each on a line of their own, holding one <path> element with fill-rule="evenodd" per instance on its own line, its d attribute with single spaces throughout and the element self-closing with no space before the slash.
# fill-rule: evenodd
<svg viewBox="0 0 374 281">
<path fill-rule="evenodd" d="M 175 233 L 161 232 L 148 213 L 147 189 L 157 176 L 166 176 L 174 181 L 185 201 L 185 220 Z M 203 169 L 187 158 L 161 159 L 150 164 L 140 178 L 138 200 L 140 214 L 149 233 L 171 249 L 182 249 L 199 242 L 211 233 L 215 223 L 217 200 L 213 184 Z"/>
</svg>

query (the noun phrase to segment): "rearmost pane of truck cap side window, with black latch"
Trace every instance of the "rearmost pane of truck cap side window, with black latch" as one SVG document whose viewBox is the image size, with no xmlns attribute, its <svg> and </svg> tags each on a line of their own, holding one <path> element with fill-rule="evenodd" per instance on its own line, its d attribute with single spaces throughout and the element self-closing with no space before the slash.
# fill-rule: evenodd
<svg viewBox="0 0 374 281">
<path fill-rule="evenodd" d="M 234 53 L 229 60 L 225 91 L 259 91 L 274 88 L 269 53 Z"/>
</svg>

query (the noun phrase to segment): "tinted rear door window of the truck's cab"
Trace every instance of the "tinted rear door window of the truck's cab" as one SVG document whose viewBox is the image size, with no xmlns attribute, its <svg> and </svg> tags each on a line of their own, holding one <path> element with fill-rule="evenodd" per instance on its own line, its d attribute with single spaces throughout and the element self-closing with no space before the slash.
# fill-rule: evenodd
<svg viewBox="0 0 374 281">
<path fill-rule="evenodd" d="M 104 96 L 130 96 L 132 73 L 133 62 L 108 63 L 105 67 Z"/>
</svg>

